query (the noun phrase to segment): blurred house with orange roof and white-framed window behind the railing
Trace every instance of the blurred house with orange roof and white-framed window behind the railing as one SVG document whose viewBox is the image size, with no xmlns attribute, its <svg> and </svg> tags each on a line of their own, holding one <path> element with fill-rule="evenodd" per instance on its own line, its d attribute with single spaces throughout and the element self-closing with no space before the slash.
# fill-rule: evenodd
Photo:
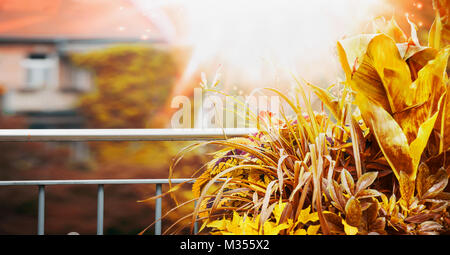
<svg viewBox="0 0 450 255">
<path fill-rule="evenodd" d="M 70 54 L 116 43 L 165 43 L 158 24 L 126 0 L 0 0 L 3 113 L 30 128 L 81 128 L 75 111 L 93 75 Z"/>
</svg>

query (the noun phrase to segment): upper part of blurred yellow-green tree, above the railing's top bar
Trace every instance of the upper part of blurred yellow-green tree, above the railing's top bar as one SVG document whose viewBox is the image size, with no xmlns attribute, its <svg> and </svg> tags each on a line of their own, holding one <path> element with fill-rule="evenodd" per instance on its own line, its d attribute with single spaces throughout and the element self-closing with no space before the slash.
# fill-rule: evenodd
<svg viewBox="0 0 450 255">
<path fill-rule="evenodd" d="M 74 55 L 75 64 L 95 74 L 95 90 L 80 100 L 92 128 L 156 128 L 152 119 L 164 106 L 179 67 L 168 50 L 149 45 L 119 45 Z"/>
</svg>

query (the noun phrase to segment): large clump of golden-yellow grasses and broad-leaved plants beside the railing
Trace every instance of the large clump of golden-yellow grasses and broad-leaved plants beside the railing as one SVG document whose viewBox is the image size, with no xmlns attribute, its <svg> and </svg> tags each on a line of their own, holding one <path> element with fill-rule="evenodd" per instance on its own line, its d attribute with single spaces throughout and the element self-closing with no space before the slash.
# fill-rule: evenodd
<svg viewBox="0 0 450 255">
<path fill-rule="evenodd" d="M 256 134 L 207 142 L 224 149 L 195 177 L 196 207 L 179 222 L 211 234 L 450 233 L 447 20 L 437 12 L 428 46 L 393 20 L 339 41 L 345 81 L 329 89 L 269 89 L 294 116 L 262 113 Z"/>
</svg>

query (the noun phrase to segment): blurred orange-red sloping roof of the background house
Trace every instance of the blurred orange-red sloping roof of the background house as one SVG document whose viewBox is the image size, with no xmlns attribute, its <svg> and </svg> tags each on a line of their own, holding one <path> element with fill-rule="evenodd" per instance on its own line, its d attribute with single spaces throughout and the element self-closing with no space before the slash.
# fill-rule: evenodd
<svg viewBox="0 0 450 255">
<path fill-rule="evenodd" d="M 0 37 L 165 40 L 127 0 L 0 0 Z"/>
</svg>

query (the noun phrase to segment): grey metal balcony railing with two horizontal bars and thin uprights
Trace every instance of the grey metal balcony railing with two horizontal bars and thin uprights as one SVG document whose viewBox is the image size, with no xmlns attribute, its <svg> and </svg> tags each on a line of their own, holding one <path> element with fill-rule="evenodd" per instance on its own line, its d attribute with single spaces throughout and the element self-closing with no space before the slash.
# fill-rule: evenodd
<svg viewBox="0 0 450 255">
<path fill-rule="evenodd" d="M 230 137 L 247 136 L 256 129 L 0 129 L 0 142 L 5 141 L 206 141 Z M 190 179 L 171 179 L 172 183 L 182 183 Z M 106 179 L 106 180 L 27 180 L 0 181 L 0 186 L 38 187 L 37 234 L 44 234 L 45 186 L 49 185 L 97 185 L 97 235 L 103 235 L 104 185 L 113 184 L 154 184 L 156 196 L 162 193 L 162 185 L 168 179 Z M 155 235 L 161 235 L 162 199 L 155 204 Z"/>
</svg>

